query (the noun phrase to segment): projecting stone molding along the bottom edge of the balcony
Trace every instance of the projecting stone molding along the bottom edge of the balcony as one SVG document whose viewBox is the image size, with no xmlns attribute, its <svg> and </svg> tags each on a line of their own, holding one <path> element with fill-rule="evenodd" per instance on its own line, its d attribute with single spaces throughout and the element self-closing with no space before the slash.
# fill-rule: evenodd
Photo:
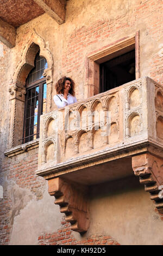
<svg viewBox="0 0 163 256">
<path fill-rule="evenodd" d="M 106 148 L 105 150 L 96 151 L 96 153 L 87 154 L 84 156 L 73 157 L 65 162 L 57 163 L 54 166 L 39 168 L 36 171 L 37 175 L 43 176 L 45 179 L 55 178 L 61 175 L 67 176 L 69 173 L 77 170 L 89 168 L 97 164 L 106 163 L 113 160 L 118 160 L 127 156 L 147 153 L 163 157 L 163 146 L 153 143 L 152 141 L 141 141 L 130 145 L 122 145 L 121 147 Z"/>
</svg>

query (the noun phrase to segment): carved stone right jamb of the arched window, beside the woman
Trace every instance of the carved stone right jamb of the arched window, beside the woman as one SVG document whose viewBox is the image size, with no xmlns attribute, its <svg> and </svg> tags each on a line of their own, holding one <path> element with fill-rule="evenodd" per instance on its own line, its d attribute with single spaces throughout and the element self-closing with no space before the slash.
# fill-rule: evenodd
<svg viewBox="0 0 163 256">
<path fill-rule="evenodd" d="M 43 76 L 46 78 L 47 84 L 47 113 L 51 112 L 52 108 L 52 89 L 53 89 L 53 69 L 49 67 L 44 70 Z"/>
</svg>

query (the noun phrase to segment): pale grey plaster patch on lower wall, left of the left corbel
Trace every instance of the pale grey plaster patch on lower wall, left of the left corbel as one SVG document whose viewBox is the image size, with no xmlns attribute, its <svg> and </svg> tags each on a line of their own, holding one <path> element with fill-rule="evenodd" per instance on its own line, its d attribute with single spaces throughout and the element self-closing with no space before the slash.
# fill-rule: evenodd
<svg viewBox="0 0 163 256">
<path fill-rule="evenodd" d="M 52 233 L 60 228 L 62 215 L 58 206 L 54 205 L 54 199 L 49 196 L 46 186 L 43 199 L 36 201 L 32 197 L 15 217 L 9 244 L 37 245 L 40 233 Z"/>
</svg>

